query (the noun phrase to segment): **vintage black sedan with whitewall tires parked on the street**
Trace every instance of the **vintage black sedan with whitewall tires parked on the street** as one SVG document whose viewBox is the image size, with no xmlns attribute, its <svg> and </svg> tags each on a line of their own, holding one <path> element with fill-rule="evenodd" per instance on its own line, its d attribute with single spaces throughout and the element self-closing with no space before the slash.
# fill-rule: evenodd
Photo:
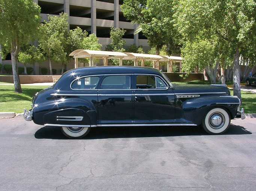
<svg viewBox="0 0 256 191">
<path fill-rule="evenodd" d="M 175 85 L 154 68 L 96 66 L 64 73 L 33 97 L 24 118 L 60 126 L 69 138 L 105 126 L 202 125 L 210 134 L 222 134 L 239 106 L 226 86 Z"/>
</svg>

